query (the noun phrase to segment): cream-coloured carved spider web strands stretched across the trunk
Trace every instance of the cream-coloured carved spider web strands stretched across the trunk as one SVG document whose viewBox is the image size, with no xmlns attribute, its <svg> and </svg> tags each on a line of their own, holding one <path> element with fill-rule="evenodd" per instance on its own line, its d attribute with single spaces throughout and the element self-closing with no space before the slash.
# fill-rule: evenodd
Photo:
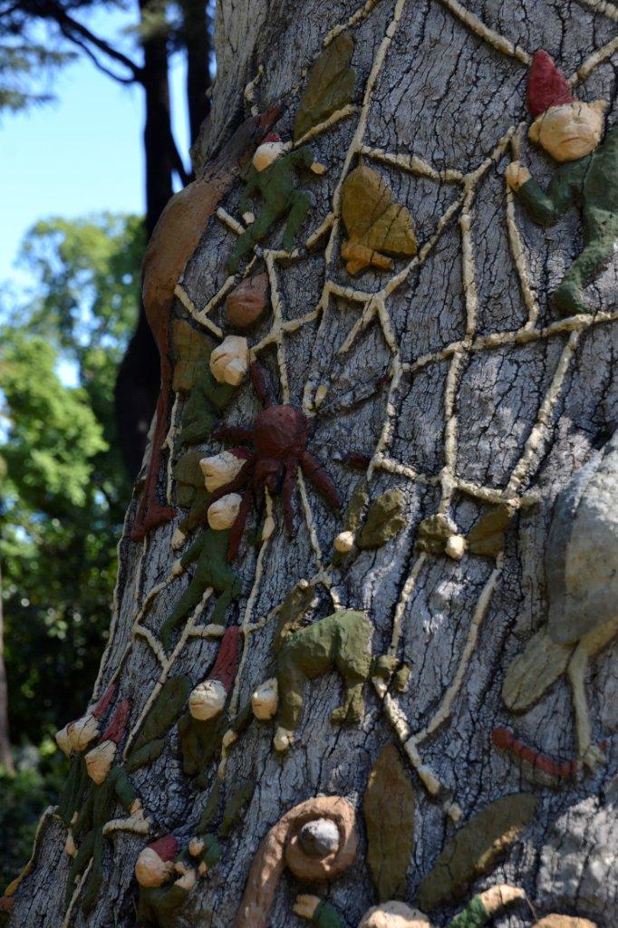
<svg viewBox="0 0 618 928">
<path fill-rule="evenodd" d="M 257 261 L 258 256 L 262 257 L 270 282 L 273 311 L 272 326 L 264 338 L 252 346 L 251 356 L 255 359 L 263 354 L 263 352 L 267 349 L 275 349 L 283 402 L 290 402 L 290 381 L 286 355 L 287 338 L 293 332 L 297 331 L 298 329 L 302 329 L 303 326 L 319 320 L 319 329 L 315 335 L 315 342 L 317 342 L 317 340 L 320 338 L 320 334 L 324 329 L 325 321 L 328 319 L 331 298 L 340 298 L 343 301 L 354 304 L 357 308 L 360 309 L 360 315 L 358 316 L 353 328 L 350 330 L 347 338 L 341 345 L 338 354 L 340 356 L 347 354 L 352 349 L 359 336 L 367 329 L 373 320 L 377 321 L 377 324 L 379 325 L 383 334 L 388 351 L 391 354 L 391 367 L 388 375 L 390 380 L 390 389 L 388 401 L 386 404 L 386 415 L 382 424 L 380 439 L 376 445 L 373 457 L 371 458 L 367 469 L 367 479 L 370 481 L 374 474 L 379 471 L 385 471 L 387 473 L 403 477 L 412 483 L 436 485 L 440 489 L 440 502 L 438 511 L 441 513 L 446 513 L 456 493 L 470 496 L 485 503 L 508 503 L 511 509 L 521 509 L 522 507 L 533 505 L 537 501 L 537 497 L 533 492 L 526 492 L 526 487 L 531 482 L 534 476 L 534 471 L 544 456 L 549 433 L 552 429 L 552 413 L 555 406 L 560 401 L 562 389 L 572 365 L 575 349 L 582 336 L 582 333 L 586 332 L 587 329 L 598 326 L 599 324 L 612 322 L 618 319 L 618 313 L 599 312 L 595 316 L 572 316 L 554 321 L 544 328 L 538 327 L 537 323 L 539 317 L 539 306 L 530 282 L 527 259 L 514 209 L 513 194 L 507 187 L 506 226 L 508 230 L 509 250 L 511 253 L 513 265 L 517 273 L 517 277 L 519 279 L 521 298 L 525 305 L 527 317 L 524 324 L 519 329 L 494 331 L 486 335 L 477 334 L 478 297 L 476 285 L 476 258 L 474 242 L 471 235 L 474 201 L 483 178 L 489 174 L 491 169 L 495 167 L 499 161 L 508 155 L 510 155 L 512 158 L 519 157 L 521 135 L 525 123 L 521 122 L 519 124 L 510 126 L 509 130 L 499 139 L 497 139 L 495 146 L 493 150 L 491 150 L 490 154 L 482 161 L 480 161 L 477 166 L 468 173 L 462 173 L 456 168 L 438 170 L 427 161 L 423 161 L 422 159 L 418 158 L 416 155 L 409 155 L 402 152 L 391 152 L 381 148 L 371 148 L 367 146 L 365 143 L 365 135 L 367 130 L 369 109 L 372 103 L 374 90 L 389 47 L 393 42 L 393 37 L 400 25 L 402 14 L 406 7 L 406 2 L 407 0 L 397 0 L 395 3 L 393 9 L 393 18 L 391 19 L 385 31 L 376 57 L 373 60 L 373 66 L 367 78 L 361 106 L 357 107 L 350 105 L 333 113 L 326 122 L 322 122 L 319 125 L 316 125 L 309 132 L 303 135 L 303 138 L 299 139 L 299 141 L 294 145 L 294 147 L 303 145 L 310 141 L 312 138 L 318 137 L 328 132 L 331 127 L 341 123 L 342 121 L 357 118 L 354 135 L 349 147 L 347 148 L 345 159 L 341 168 L 341 174 L 334 189 L 330 211 L 328 212 L 328 215 L 323 220 L 323 222 L 321 222 L 320 225 L 314 229 L 314 231 L 304 242 L 305 248 L 309 249 L 314 248 L 316 243 L 320 242 L 323 238 L 326 239 L 326 246 L 324 248 L 324 259 L 326 265 L 325 279 L 320 299 L 315 305 L 315 308 L 299 318 L 287 320 L 284 317 L 284 306 L 279 288 L 277 265 L 280 262 L 285 261 L 285 263 L 289 266 L 290 263 L 300 260 L 303 255 L 298 250 L 280 251 L 276 249 L 263 249 L 256 247 L 256 253 L 254 257 L 245 268 L 244 273 L 239 276 L 247 277 L 250 275 L 251 269 Z M 449 10 L 455 18 L 462 22 L 467 29 L 482 39 L 484 43 L 491 45 L 500 54 L 509 58 L 513 58 L 520 62 L 522 65 L 527 66 L 530 64 L 532 60 L 530 52 L 522 48 L 521 45 L 517 45 L 511 42 L 507 36 L 502 35 L 486 26 L 481 19 L 471 13 L 470 10 L 468 10 L 465 6 L 462 6 L 460 3 L 458 3 L 457 0 L 435 0 L 435 2 L 446 7 L 446 9 Z M 611 4 L 604 2 L 604 0 L 580 0 L 580 2 L 595 12 L 618 21 L 618 10 Z M 363 6 L 360 6 L 346 22 L 341 23 L 328 33 L 324 40 L 324 46 L 328 46 L 342 30 L 353 28 L 362 19 L 365 19 L 372 12 L 374 7 L 378 6 L 379 3 L 380 0 L 367 0 L 367 2 Z M 571 84 L 574 85 L 585 81 L 601 62 L 610 58 L 617 50 L 618 37 L 612 39 L 611 42 L 603 45 L 598 50 L 593 52 L 593 54 L 591 54 L 588 58 L 586 58 L 586 60 L 583 61 L 577 71 L 573 73 L 570 79 Z M 255 85 L 261 79 L 263 71 L 264 69 L 261 66 L 256 75 L 256 78 L 251 82 L 251 84 L 248 84 L 246 88 L 245 97 L 250 103 L 252 103 L 253 100 Z M 252 107 L 252 111 L 257 113 L 257 107 Z M 288 143 L 288 147 L 292 148 L 291 142 Z M 409 261 L 403 268 L 394 273 L 392 277 L 386 279 L 378 292 L 371 293 L 363 290 L 356 290 L 354 287 L 342 286 L 331 276 L 333 265 L 336 260 L 335 246 L 338 232 L 341 226 L 341 187 L 343 180 L 354 164 L 354 160 L 357 158 L 362 158 L 365 161 L 376 161 L 408 174 L 413 174 L 415 176 L 423 177 L 431 181 L 452 185 L 457 189 L 457 196 L 455 200 L 450 203 L 450 205 L 445 209 L 444 213 L 442 213 L 442 215 L 439 217 L 431 236 L 427 239 L 427 241 L 425 241 L 423 246 L 418 251 L 418 254 L 412 258 L 412 260 Z M 230 229 L 234 234 L 240 235 L 244 230 L 244 226 L 241 226 L 238 220 L 227 213 L 225 209 L 220 208 L 217 211 L 216 216 L 218 221 L 223 224 L 223 226 Z M 435 249 L 437 243 L 440 241 L 444 230 L 451 226 L 451 223 L 455 221 L 456 218 L 461 239 L 461 277 L 464 290 L 466 314 L 465 333 L 463 337 L 457 341 L 449 342 L 441 349 L 431 352 L 430 354 L 419 356 L 411 363 L 405 363 L 402 361 L 401 347 L 397 342 L 393 320 L 389 312 L 389 298 L 392 296 L 395 290 L 398 290 L 406 283 L 408 278 L 416 269 L 425 264 L 428 257 L 431 255 L 431 252 Z M 212 311 L 225 300 L 226 294 L 232 290 L 232 288 L 235 287 L 237 283 L 238 276 L 227 277 L 223 286 L 211 296 L 211 298 L 202 308 L 199 308 L 193 302 L 187 293 L 182 280 L 178 282 L 175 289 L 175 294 L 187 310 L 187 313 L 198 324 L 200 329 L 205 329 L 218 339 L 221 339 L 224 336 L 224 332 L 212 321 Z M 545 393 L 540 406 L 538 407 L 534 425 L 523 444 L 520 458 L 510 472 L 509 481 L 506 487 L 504 489 L 496 489 L 491 486 L 466 481 L 458 477 L 456 473 L 458 445 L 457 389 L 459 386 L 461 370 L 466 360 L 476 354 L 489 353 L 503 346 L 523 345 L 529 344 L 531 342 L 549 342 L 549 340 L 567 334 L 568 339 L 560 354 L 560 360 L 554 371 L 553 378 L 549 383 L 547 392 Z M 444 361 L 448 362 L 448 372 L 446 375 L 444 389 L 444 467 L 439 474 L 431 475 L 418 472 L 418 470 L 415 470 L 405 460 L 397 460 L 393 458 L 389 448 L 393 438 L 393 429 L 401 411 L 401 402 L 399 400 L 398 391 L 403 378 L 406 377 L 411 380 L 418 373 L 418 371 L 424 369 L 425 367 L 429 367 L 433 364 Z M 323 400 L 324 393 L 326 392 L 326 387 L 324 384 L 320 383 L 319 376 L 319 371 L 317 367 L 314 366 L 314 369 L 311 371 L 305 383 L 303 393 L 303 411 L 308 416 L 315 415 L 316 409 L 320 405 L 320 402 Z M 176 406 L 177 404 L 174 403 L 172 416 L 173 424 L 167 439 L 167 444 L 170 447 L 173 444 L 174 438 L 174 419 L 176 417 Z M 325 560 L 322 549 L 320 548 L 319 540 L 315 530 L 315 520 L 312 505 L 307 494 L 305 483 L 303 481 L 303 474 L 300 472 L 300 470 L 298 480 L 302 500 L 303 516 L 317 564 L 317 571 L 312 577 L 308 578 L 308 582 L 313 587 L 318 585 L 323 586 L 328 591 L 333 606 L 337 608 L 340 606 L 340 602 L 330 574 L 331 564 Z M 172 489 L 171 463 L 168 470 L 167 485 L 168 496 L 170 496 Z M 268 516 L 272 514 L 272 501 L 268 495 L 266 495 L 266 514 Z M 239 686 L 242 678 L 242 670 L 248 659 L 248 654 L 250 651 L 251 635 L 254 632 L 264 628 L 264 625 L 266 625 L 277 614 L 279 609 L 279 606 L 277 606 L 266 616 L 260 617 L 255 615 L 255 604 L 264 573 L 264 560 L 266 558 L 268 548 L 269 539 L 265 539 L 257 557 L 251 592 L 244 607 L 244 612 L 240 624 L 243 637 L 243 648 L 240 664 L 238 667 L 236 683 L 230 701 L 231 717 L 233 717 L 238 711 Z M 138 571 L 139 574 L 143 572 L 147 552 L 148 538 L 145 538 L 143 542 L 140 568 Z M 405 583 L 399 594 L 399 598 L 397 599 L 393 613 L 392 638 L 391 646 L 389 649 L 389 652 L 393 655 L 397 654 L 406 606 L 414 593 L 418 574 L 426 559 L 427 555 L 423 553 L 418 554 L 416 560 L 412 563 L 411 569 L 406 576 Z M 476 605 L 472 612 L 468 637 L 459 655 L 455 674 L 451 680 L 450 685 L 446 688 L 446 690 L 444 690 L 441 701 L 431 715 L 431 719 L 423 728 L 413 731 L 408 719 L 406 718 L 406 714 L 398 697 L 393 694 L 393 692 L 388 690 L 387 684 L 384 681 L 378 678 L 373 679 L 374 689 L 376 690 L 376 693 L 382 702 L 385 714 L 387 715 L 399 741 L 401 742 L 404 753 L 406 754 L 411 767 L 417 772 L 420 780 L 424 783 L 428 792 L 433 796 L 436 796 L 442 792 L 443 784 L 440 782 L 435 772 L 431 770 L 431 767 L 428 767 L 423 762 L 423 758 L 420 753 L 420 747 L 434 731 L 440 728 L 444 722 L 448 720 L 452 713 L 454 702 L 456 701 L 457 695 L 462 688 L 464 678 L 466 677 L 466 673 L 470 665 L 472 654 L 477 644 L 481 626 L 483 625 L 484 616 L 488 610 L 492 595 L 496 589 L 498 579 L 501 575 L 503 563 L 504 553 L 501 551 L 496 556 L 494 569 L 484 583 L 483 589 L 481 590 L 481 593 L 476 601 Z M 114 611 L 112 625 L 110 628 L 109 644 L 105 654 L 103 655 L 99 677 L 95 687 L 95 693 L 97 693 L 101 688 L 102 677 L 105 673 L 110 648 L 114 638 L 114 632 L 118 623 L 118 589 L 119 585 L 121 584 L 121 573 L 122 572 L 119 571 L 119 580 L 114 595 Z M 197 620 L 203 610 L 204 603 L 212 592 L 211 590 L 206 590 L 202 602 L 189 617 L 181 637 L 174 648 L 174 651 L 169 656 L 164 653 L 160 641 L 153 635 L 151 631 L 148 630 L 148 628 L 142 625 L 142 620 L 145 614 L 148 612 L 149 605 L 153 599 L 155 599 L 159 593 L 161 593 L 161 591 L 172 582 L 173 579 L 174 577 L 170 575 L 162 580 L 161 583 L 153 586 L 149 590 L 145 599 L 142 601 L 141 605 L 137 601 L 140 595 L 139 591 L 143 586 L 141 575 L 138 577 L 138 582 L 135 584 L 135 622 L 133 625 L 133 632 L 112 679 L 118 676 L 120 673 L 122 665 L 124 664 L 124 659 L 127 653 L 133 647 L 133 644 L 137 638 L 148 645 L 150 651 L 152 651 L 160 664 L 161 673 L 154 689 L 148 696 L 148 701 L 146 702 L 141 714 L 139 715 L 139 718 L 136 720 L 135 725 L 129 732 L 125 753 L 131 747 L 132 742 L 135 740 L 135 735 L 138 729 L 141 727 L 145 716 L 148 714 L 150 707 L 157 698 L 157 695 L 159 694 L 164 681 L 169 676 L 177 657 L 180 655 L 185 645 L 187 644 L 187 640 L 192 637 L 216 638 L 221 636 L 224 631 L 224 629 L 218 625 L 197 624 Z M 224 756 L 219 771 L 220 776 L 222 777 L 225 776 L 225 755 L 226 750 L 224 749 Z M 446 809 L 454 817 L 457 815 L 457 806 L 454 804 L 447 805 Z M 76 894 L 78 892 L 79 886 L 77 887 Z"/>
</svg>

